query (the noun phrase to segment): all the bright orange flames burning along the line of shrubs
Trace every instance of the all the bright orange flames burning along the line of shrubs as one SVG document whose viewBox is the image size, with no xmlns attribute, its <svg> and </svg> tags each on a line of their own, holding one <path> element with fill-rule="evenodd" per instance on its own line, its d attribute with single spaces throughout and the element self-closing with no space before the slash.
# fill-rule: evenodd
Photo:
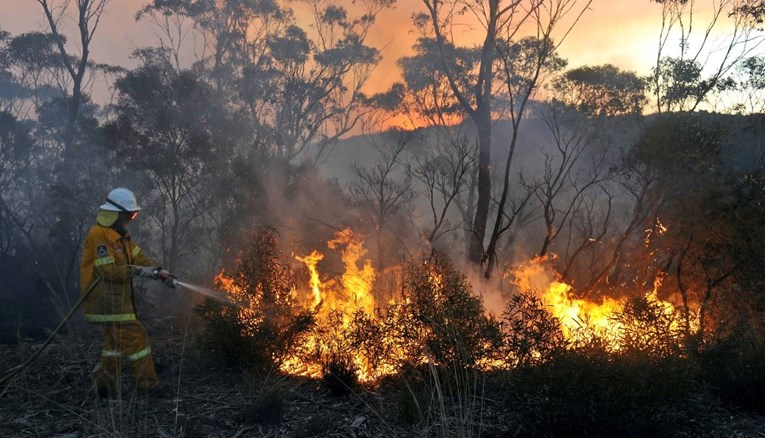
<svg viewBox="0 0 765 438">
<path fill-rule="evenodd" d="M 312 312 L 315 324 L 311 331 L 300 338 L 300 344 L 296 347 L 298 353 L 280 362 L 281 370 L 293 375 L 318 378 L 326 371 L 328 361 L 340 356 L 352 365 L 357 378 L 362 382 L 394 374 L 403 361 L 407 360 L 400 345 L 402 340 L 406 342 L 411 339 L 412 334 L 407 332 L 406 323 L 401 323 L 407 321 L 407 315 L 401 312 L 406 312 L 405 308 L 410 301 L 401 300 L 400 297 L 389 298 L 385 303 L 375 300 L 373 290 L 377 273 L 371 261 L 365 258 L 363 243 L 351 230 L 336 233 L 334 239 L 327 242 L 327 246 L 330 250 L 340 251 L 344 265 L 342 274 L 334 278 L 322 278 L 320 275 L 320 262 L 325 259 L 321 252 L 312 251 L 305 256 L 294 256 L 306 266 L 310 274 L 309 287 L 306 290 L 292 290 L 290 294 L 296 299 L 295 302 Z M 596 302 L 577 297 L 573 288 L 562 282 L 551 269 L 549 261 L 548 258 L 537 258 L 520 264 L 509 273 L 510 281 L 518 291 L 533 294 L 542 300 L 545 309 L 560 323 L 560 329 L 571 345 L 598 341 L 603 342 L 611 351 L 619 351 L 625 347 L 627 339 L 626 342 L 643 342 L 650 346 L 655 333 L 647 334 L 650 328 L 639 320 L 639 315 L 631 316 L 634 320 L 625 316 L 632 315 L 625 312 L 626 301 L 604 297 Z M 242 292 L 237 286 L 239 280 L 242 279 L 227 277 L 223 271 L 216 278 L 217 284 L 232 294 L 234 301 L 241 302 Z M 429 281 L 434 293 L 438 294 L 444 286 L 444 279 L 434 270 Z M 665 333 L 674 336 L 680 333 L 681 324 L 675 306 L 658 298 L 659 285 L 657 281 L 652 291 L 643 294 L 646 303 L 643 307 L 649 308 L 662 321 L 668 321 L 664 324 L 667 328 Z M 240 296 L 239 300 L 237 295 Z M 252 327 L 252 324 L 264 320 L 263 312 L 256 312 L 257 303 L 243 304 L 236 310 L 228 311 L 238 312 L 237 316 L 245 327 Z M 363 325 L 365 321 L 371 323 L 367 327 L 377 330 L 363 332 L 364 336 L 374 338 L 375 346 L 372 348 L 377 350 L 371 353 L 369 347 L 363 345 L 363 339 L 359 341 L 356 337 L 351 340 L 352 336 L 349 335 L 358 328 L 359 322 Z M 625 333 L 629 336 L 625 337 Z M 410 356 L 408 360 L 424 363 L 428 358 L 425 354 L 414 358 Z M 484 368 L 507 365 L 495 359 L 481 364 Z"/>
</svg>

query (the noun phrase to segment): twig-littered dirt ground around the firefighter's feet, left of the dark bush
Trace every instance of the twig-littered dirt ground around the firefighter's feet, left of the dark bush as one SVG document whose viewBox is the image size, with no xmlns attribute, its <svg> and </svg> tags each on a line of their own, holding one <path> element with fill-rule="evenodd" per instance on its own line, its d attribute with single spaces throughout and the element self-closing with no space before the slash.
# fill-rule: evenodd
<svg viewBox="0 0 765 438">
<path fill-rule="evenodd" d="M 513 426 L 518 422 L 512 413 L 491 397 L 480 400 L 480 415 L 467 429 L 457 419 L 403 422 L 395 397 L 379 388 L 336 397 L 321 382 L 295 377 L 268 379 L 279 388 L 281 411 L 264 408 L 258 404 L 262 380 L 203 363 L 189 332 L 171 325 L 154 321 L 147 328 L 157 371 L 173 394 L 139 395 L 125 376 L 120 399 L 99 399 L 91 371 L 100 332 L 83 326 L 57 337 L 24 373 L 0 386 L 0 437 L 526 436 Z M 0 372 L 23 362 L 40 344 L 22 339 L 0 345 Z M 715 413 L 709 424 L 704 436 L 765 437 L 765 420 L 757 416 Z"/>
</svg>

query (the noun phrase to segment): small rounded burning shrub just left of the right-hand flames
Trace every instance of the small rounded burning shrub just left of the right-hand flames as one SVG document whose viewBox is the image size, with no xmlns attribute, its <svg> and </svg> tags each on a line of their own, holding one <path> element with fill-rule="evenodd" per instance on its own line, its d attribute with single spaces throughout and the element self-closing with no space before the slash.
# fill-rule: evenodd
<svg viewBox="0 0 765 438">
<path fill-rule="evenodd" d="M 560 321 L 528 293 L 514 295 L 502 315 L 504 360 L 509 366 L 542 363 L 566 348 Z"/>
</svg>

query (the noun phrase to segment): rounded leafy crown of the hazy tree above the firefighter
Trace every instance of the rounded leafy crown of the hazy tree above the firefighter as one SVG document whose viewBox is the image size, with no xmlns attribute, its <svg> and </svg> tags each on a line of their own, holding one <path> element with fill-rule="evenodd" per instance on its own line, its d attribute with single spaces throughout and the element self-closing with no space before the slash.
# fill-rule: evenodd
<svg viewBox="0 0 765 438">
<path fill-rule="evenodd" d="M 142 64 L 117 81 L 117 118 L 107 124 L 118 156 L 158 183 L 197 178 L 219 157 L 225 123 L 211 90 L 195 73 L 178 72 L 159 49 L 136 53 Z"/>
</svg>

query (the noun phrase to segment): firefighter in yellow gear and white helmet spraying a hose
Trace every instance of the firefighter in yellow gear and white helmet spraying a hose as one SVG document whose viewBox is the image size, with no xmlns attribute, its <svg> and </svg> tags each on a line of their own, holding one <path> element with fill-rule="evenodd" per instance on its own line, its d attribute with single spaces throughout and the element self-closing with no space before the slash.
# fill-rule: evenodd
<svg viewBox="0 0 765 438">
<path fill-rule="evenodd" d="M 85 320 L 101 325 L 104 332 L 101 358 L 94 371 L 95 389 L 102 397 L 119 394 L 123 361 L 128 362 L 138 390 L 167 393 L 154 370 L 146 329 L 136 317 L 133 277 L 162 280 L 168 287 L 174 287 L 175 277 L 130 238 L 128 224 L 140 210 L 133 192 L 112 190 L 82 251 L 80 292 L 88 294 L 82 304 Z"/>
</svg>

